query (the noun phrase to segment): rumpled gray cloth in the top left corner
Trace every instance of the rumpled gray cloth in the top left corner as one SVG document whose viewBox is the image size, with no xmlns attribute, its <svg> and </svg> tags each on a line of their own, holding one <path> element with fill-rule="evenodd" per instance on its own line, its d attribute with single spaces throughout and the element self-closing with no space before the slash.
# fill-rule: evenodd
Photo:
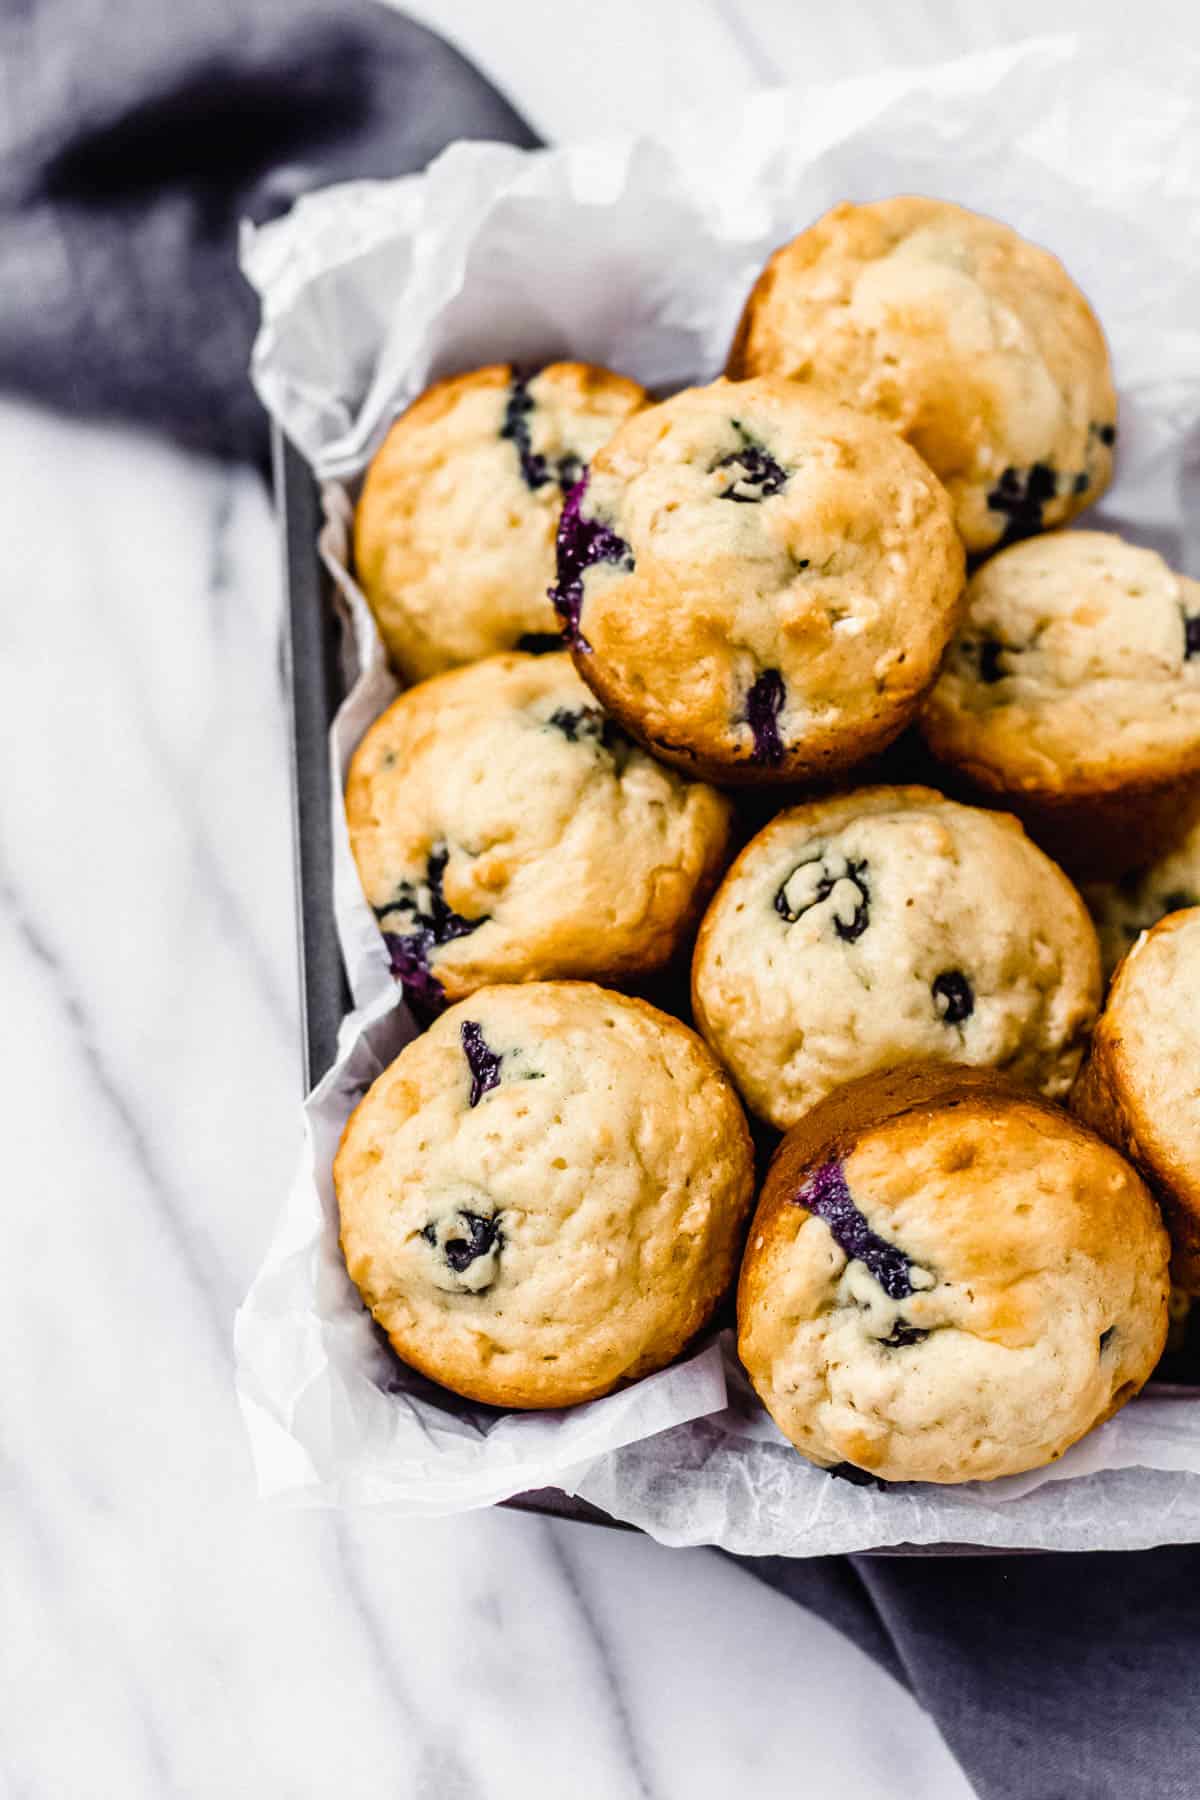
<svg viewBox="0 0 1200 1800">
<path fill-rule="evenodd" d="M 455 137 L 536 142 L 369 0 L 0 0 L 0 385 L 264 454 L 239 218 Z"/>
</svg>

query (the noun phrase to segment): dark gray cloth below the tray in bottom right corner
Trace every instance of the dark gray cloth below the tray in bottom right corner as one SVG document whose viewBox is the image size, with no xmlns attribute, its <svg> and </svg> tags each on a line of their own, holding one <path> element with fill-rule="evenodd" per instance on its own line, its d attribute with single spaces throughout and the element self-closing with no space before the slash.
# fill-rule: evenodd
<svg viewBox="0 0 1200 1800">
<path fill-rule="evenodd" d="M 901 1681 L 981 1800 L 1200 1796 L 1200 1550 L 741 1566 Z"/>
</svg>

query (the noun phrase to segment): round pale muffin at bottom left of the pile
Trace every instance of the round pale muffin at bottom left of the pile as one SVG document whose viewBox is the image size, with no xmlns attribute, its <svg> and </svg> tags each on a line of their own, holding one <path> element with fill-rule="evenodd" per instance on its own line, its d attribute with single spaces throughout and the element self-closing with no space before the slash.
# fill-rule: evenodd
<svg viewBox="0 0 1200 1800">
<path fill-rule="evenodd" d="M 398 1355 L 489 1406 L 664 1368 L 729 1287 L 754 1190 L 694 1031 L 581 981 L 443 1013 L 362 1100 L 333 1177 L 345 1265 Z"/>
</svg>

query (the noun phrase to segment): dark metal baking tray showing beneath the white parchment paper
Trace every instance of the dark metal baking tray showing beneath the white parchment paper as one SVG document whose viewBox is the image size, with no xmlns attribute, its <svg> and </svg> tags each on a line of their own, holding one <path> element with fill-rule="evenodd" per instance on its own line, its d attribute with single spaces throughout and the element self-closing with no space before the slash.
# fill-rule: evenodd
<svg viewBox="0 0 1200 1800">
<path fill-rule="evenodd" d="M 333 581 L 318 556 L 320 490 L 304 457 L 272 423 L 272 466 L 288 592 L 286 688 L 291 733 L 291 826 L 300 958 L 300 1031 L 306 1093 L 333 1064 L 338 1024 L 351 995 L 342 968 L 333 916 L 333 796 L 329 792 L 329 725 L 342 702 L 340 623 Z M 1200 1307 L 1195 1309 L 1200 1312 Z M 1153 1381 L 1157 1397 L 1200 1399 L 1200 1321 L 1180 1375 Z M 1178 1368 L 1180 1359 L 1175 1359 Z M 504 1505 L 613 1530 L 637 1530 L 583 1499 L 556 1489 L 518 1494 Z M 867 1555 L 1036 1555 L 972 1544 L 898 1544 Z"/>
</svg>

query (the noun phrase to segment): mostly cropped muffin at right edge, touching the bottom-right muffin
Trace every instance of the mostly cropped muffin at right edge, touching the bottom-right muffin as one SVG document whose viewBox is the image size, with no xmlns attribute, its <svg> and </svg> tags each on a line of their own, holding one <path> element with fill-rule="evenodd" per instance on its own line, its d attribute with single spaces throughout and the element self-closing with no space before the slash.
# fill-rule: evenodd
<svg viewBox="0 0 1200 1800">
<path fill-rule="evenodd" d="M 1200 907 L 1160 920 L 1121 963 L 1070 1105 L 1146 1175 L 1175 1282 L 1200 1294 Z"/>
</svg>

